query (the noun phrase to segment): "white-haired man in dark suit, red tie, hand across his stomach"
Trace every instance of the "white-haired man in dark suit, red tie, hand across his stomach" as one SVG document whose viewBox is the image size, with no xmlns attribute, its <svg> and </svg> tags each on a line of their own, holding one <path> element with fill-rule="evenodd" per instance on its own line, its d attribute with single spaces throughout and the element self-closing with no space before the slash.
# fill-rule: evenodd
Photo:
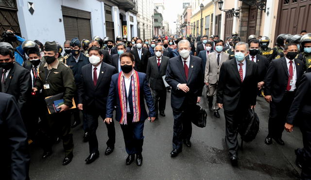
<svg viewBox="0 0 311 180">
<path fill-rule="evenodd" d="M 182 144 L 191 147 L 192 108 L 200 101 L 204 86 L 201 58 L 190 55 L 190 42 L 178 42 L 180 56 L 169 60 L 165 81 L 172 87 L 173 150 L 172 157 L 182 151 Z"/>
</svg>

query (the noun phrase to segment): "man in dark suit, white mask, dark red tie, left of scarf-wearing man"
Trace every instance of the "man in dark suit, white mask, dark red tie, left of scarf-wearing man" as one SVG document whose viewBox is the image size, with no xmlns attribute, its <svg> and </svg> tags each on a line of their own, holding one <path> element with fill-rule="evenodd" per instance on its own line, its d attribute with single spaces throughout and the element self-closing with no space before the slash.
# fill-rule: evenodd
<svg viewBox="0 0 311 180">
<path fill-rule="evenodd" d="M 86 127 L 89 133 L 89 156 L 86 164 L 92 163 L 99 156 L 96 130 L 98 117 L 103 119 L 106 115 L 106 102 L 111 76 L 117 73 L 117 69 L 103 62 L 104 55 L 97 47 L 91 47 L 88 51 L 90 64 L 81 69 L 81 83 L 78 85 L 78 109 L 84 110 L 86 115 Z M 114 123 L 107 124 L 108 141 L 105 155 L 109 155 L 115 146 Z"/>
</svg>

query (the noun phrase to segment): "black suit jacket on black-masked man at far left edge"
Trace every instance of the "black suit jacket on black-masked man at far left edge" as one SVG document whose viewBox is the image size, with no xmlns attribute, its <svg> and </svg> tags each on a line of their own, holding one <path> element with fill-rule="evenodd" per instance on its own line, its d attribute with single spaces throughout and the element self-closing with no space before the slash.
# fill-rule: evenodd
<svg viewBox="0 0 311 180">
<path fill-rule="evenodd" d="M 2 78 L 3 69 L 0 68 Z M 14 63 L 6 77 L 5 90 L 3 93 L 13 95 L 22 114 L 25 113 L 27 103 L 32 91 L 30 72 L 21 65 Z M 0 83 L 1 86 L 1 83 Z M 1 88 L 0 88 L 1 89 Z"/>
</svg>

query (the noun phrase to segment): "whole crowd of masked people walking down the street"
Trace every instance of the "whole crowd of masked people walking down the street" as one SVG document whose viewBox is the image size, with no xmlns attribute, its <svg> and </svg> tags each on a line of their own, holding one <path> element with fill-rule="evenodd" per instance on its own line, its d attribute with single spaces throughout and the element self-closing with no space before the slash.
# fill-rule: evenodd
<svg viewBox="0 0 311 180">
<path fill-rule="evenodd" d="M 284 129 L 291 132 L 298 125 L 304 147 L 293 153 L 302 168 L 301 178 L 311 179 L 311 33 L 279 34 L 274 48 L 269 47 L 267 36 L 250 35 L 246 41 L 237 33 L 225 41 L 218 35 L 163 35 L 152 40 L 130 40 L 124 35 L 115 40 L 73 38 L 62 46 L 4 32 L 0 121 L 6 126 L 1 138 L 6 138 L 2 142 L 7 147 L 1 151 L 10 155 L 0 169 L 8 179 L 28 179 L 28 145 L 40 145 L 42 158 L 47 158 L 59 139 L 65 151 L 63 165 L 69 164 L 71 128 L 79 124 L 89 144 L 86 164 L 94 162 L 100 154 L 99 116 L 107 128 L 104 154 L 114 150 L 116 120 L 128 154 L 125 163 L 134 162 L 136 155 L 141 166 L 144 121 L 165 116 L 168 92 L 174 121 L 170 154 L 176 157 L 183 144 L 191 147 L 190 119 L 206 86 L 208 109 L 217 118 L 224 109 L 225 143 L 232 165 L 238 163 L 239 127 L 247 111 L 256 108 L 257 98 L 264 97 L 270 103 L 264 143 L 284 145 Z M 48 99 L 54 99 L 51 106 Z"/>
</svg>

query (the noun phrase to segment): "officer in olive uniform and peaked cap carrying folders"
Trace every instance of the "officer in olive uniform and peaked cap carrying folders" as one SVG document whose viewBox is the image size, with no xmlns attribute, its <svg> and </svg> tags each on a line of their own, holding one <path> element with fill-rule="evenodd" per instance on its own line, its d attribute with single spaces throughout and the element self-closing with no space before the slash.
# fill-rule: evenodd
<svg viewBox="0 0 311 180">
<path fill-rule="evenodd" d="M 67 165 L 73 158 L 73 139 L 70 131 L 70 107 L 73 106 L 72 98 L 76 85 L 72 71 L 68 65 L 58 61 L 58 50 L 55 41 L 46 42 L 44 49 L 46 63 L 40 65 L 39 76 L 36 79 L 34 92 L 42 90 L 43 97 L 50 97 L 64 93 L 64 104 L 59 106 L 59 113 L 47 115 L 49 130 L 57 133 L 63 140 L 65 158 L 63 165 Z M 44 141 L 43 158 L 52 154 L 51 141 Z"/>
</svg>

